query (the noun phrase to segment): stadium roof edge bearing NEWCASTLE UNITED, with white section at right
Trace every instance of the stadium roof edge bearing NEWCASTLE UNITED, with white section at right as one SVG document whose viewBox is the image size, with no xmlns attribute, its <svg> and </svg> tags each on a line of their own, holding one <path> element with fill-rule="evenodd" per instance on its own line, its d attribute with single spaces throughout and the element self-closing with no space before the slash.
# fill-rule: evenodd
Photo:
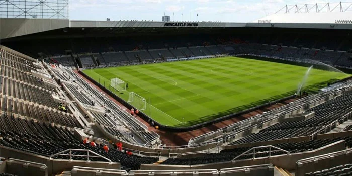
<svg viewBox="0 0 352 176">
<path fill-rule="evenodd" d="M 0 18 L 0 39 L 13 38 L 28 34 L 47 32 L 57 29 L 92 29 L 95 30 L 142 30 L 148 29 L 203 29 L 203 28 L 238 28 L 238 27 L 265 27 L 265 28 L 312 28 L 312 29 L 352 29 L 351 23 L 336 23 L 335 20 L 348 20 L 352 13 L 309 13 L 309 14 L 274 14 L 252 23 L 223 23 L 223 22 L 195 22 L 195 21 L 77 21 L 59 19 L 10 19 Z M 6 24 L 6 25 L 5 25 Z"/>
</svg>

